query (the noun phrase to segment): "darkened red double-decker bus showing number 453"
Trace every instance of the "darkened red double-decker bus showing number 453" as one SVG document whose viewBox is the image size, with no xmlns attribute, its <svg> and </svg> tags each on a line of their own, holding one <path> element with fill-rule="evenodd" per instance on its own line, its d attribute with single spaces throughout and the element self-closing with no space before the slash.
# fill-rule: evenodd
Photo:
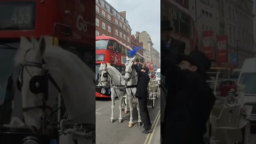
<svg viewBox="0 0 256 144">
<path fill-rule="evenodd" d="M 95 2 L 0 0 L 0 111 L 8 107 L 11 113 L 0 114 L 0 143 L 23 143 L 21 140 L 28 135 L 20 129 L 12 129 L 13 132 L 2 129 L 2 124 L 9 124 L 11 117 L 23 119 L 21 93 L 15 87 L 19 70 L 13 62 L 20 37 L 39 39 L 42 35 L 49 36 L 54 45 L 76 54 L 94 71 Z M 9 78 L 13 79 L 13 85 L 7 90 Z"/>
</svg>

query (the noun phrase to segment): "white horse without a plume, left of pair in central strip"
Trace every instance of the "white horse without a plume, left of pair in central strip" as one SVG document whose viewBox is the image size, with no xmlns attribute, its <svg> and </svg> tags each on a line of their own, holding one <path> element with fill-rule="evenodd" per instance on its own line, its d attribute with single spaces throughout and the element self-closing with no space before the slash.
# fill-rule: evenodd
<svg viewBox="0 0 256 144">
<path fill-rule="evenodd" d="M 122 75 L 121 73 L 119 73 L 119 71 L 112 67 L 112 66 L 108 66 L 107 63 L 106 64 L 100 64 L 100 68 L 99 68 L 99 73 L 101 75 L 101 84 L 104 87 L 110 87 L 110 91 L 111 91 L 111 101 L 112 101 L 112 105 L 111 105 L 111 118 L 110 118 L 110 123 L 114 122 L 114 107 L 115 107 L 115 98 L 118 97 L 119 98 L 119 118 L 118 118 L 118 122 L 122 123 L 123 122 L 123 118 L 122 118 L 122 110 L 123 110 L 123 95 L 125 92 L 121 91 L 120 86 L 124 85 L 124 83 L 122 83 Z M 125 107 L 125 111 L 127 111 L 127 105 Z"/>
</svg>

